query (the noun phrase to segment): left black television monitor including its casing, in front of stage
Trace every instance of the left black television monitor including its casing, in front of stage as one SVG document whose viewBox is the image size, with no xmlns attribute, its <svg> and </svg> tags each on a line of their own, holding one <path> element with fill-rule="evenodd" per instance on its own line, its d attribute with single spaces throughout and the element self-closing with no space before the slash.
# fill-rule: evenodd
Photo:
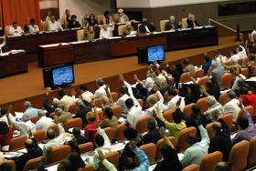
<svg viewBox="0 0 256 171">
<path fill-rule="evenodd" d="M 45 87 L 56 88 L 74 83 L 73 65 L 54 65 L 43 68 Z"/>
</svg>

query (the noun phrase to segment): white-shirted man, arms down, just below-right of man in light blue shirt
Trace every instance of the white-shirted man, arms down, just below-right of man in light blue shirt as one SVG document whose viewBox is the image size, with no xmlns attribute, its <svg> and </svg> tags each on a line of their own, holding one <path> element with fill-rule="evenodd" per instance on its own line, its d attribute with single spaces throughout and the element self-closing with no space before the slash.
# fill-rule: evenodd
<svg viewBox="0 0 256 171">
<path fill-rule="evenodd" d="M 46 116 L 43 110 L 38 110 L 39 120 L 36 123 L 37 130 L 44 130 L 46 133 L 48 131 L 48 127 L 53 125 L 53 120 Z"/>
</svg>

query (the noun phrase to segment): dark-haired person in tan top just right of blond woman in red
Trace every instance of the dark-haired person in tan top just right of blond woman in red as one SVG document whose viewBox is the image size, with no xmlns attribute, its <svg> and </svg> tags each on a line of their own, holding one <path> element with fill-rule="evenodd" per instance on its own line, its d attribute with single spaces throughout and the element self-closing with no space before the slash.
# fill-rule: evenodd
<svg viewBox="0 0 256 171">
<path fill-rule="evenodd" d="M 105 108 L 105 117 L 101 120 L 101 128 L 105 127 L 112 127 L 112 135 L 115 135 L 115 128 L 118 126 L 118 120 L 116 116 L 112 114 L 112 108 L 106 107 Z"/>
</svg>

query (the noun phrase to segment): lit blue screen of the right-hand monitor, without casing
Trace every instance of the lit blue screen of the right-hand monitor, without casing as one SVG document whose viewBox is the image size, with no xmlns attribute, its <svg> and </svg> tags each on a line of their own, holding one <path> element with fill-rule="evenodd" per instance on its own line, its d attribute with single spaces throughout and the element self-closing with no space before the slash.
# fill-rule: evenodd
<svg viewBox="0 0 256 171">
<path fill-rule="evenodd" d="M 153 63 L 156 61 L 165 60 L 165 46 L 156 45 L 153 47 L 148 47 L 147 49 L 148 63 Z"/>
</svg>

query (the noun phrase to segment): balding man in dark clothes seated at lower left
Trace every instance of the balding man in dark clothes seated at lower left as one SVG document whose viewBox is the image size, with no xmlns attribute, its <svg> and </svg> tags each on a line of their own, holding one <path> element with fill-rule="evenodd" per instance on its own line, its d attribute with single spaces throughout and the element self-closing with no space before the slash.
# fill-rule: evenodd
<svg viewBox="0 0 256 171">
<path fill-rule="evenodd" d="M 16 158 L 16 170 L 22 171 L 27 161 L 43 155 L 42 149 L 37 145 L 37 141 L 32 133 L 28 133 L 29 138 L 25 141 L 27 153 Z"/>
</svg>

